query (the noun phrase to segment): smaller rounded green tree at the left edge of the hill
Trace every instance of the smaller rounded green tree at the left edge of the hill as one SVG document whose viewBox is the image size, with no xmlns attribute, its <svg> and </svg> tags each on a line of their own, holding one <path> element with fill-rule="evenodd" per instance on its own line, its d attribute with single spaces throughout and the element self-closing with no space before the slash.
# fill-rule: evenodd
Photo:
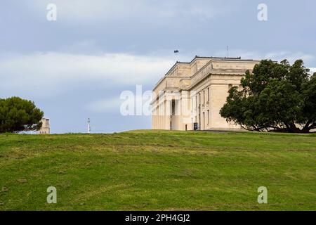
<svg viewBox="0 0 316 225">
<path fill-rule="evenodd" d="M 32 101 L 22 98 L 0 98 L 0 133 L 37 131 L 44 113 Z"/>
</svg>

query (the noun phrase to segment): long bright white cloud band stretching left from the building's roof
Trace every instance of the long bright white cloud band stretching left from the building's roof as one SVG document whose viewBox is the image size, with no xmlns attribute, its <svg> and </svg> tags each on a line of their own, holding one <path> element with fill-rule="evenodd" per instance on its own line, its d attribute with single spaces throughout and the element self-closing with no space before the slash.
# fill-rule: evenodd
<svg viewBox="0 0 316 225">
<path fill-rule="evenodd" d="M 136 84 L 154 85 L 174 63 L 173 56 L 136 56 L 107 53 L 98 56 L 39 52 L 0 56 L 1 92 L 31 96 L 62 94 L 85 82 L 104 88 Z"/>
</svg>

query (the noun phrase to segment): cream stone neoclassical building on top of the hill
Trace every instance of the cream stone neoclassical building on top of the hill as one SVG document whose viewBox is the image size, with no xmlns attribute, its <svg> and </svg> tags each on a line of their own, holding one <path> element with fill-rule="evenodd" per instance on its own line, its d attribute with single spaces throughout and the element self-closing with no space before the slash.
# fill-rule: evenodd
<svg viewBox="0 0 316 225">
<path fill-rule="evenodd" d="M 177 62 L 153 90 L 152 129 L 240 129 L 220 116 L 228 90 L 260 60 L 196 56 Z"/>
</svg>

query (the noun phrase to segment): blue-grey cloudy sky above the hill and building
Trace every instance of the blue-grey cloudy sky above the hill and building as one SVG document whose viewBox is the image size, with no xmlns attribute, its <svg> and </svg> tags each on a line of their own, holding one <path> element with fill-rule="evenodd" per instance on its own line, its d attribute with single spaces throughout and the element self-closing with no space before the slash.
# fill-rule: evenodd
<svg viewBox="0 0 316 225">
<path fill-rule="evenodd" d="M 57 20 L 47 20 L 48 4 Z M 268 20 L 258 20 L 258 4 Z M 120 113 L 122 91 L 151 90 L 194 56 L 301 58 L 316 71 L 316 2 L 1 0 L 0 98 L 36 103 L 53 133 L 150 129 Z M 175 54 L 173 50 L 180 53 Z"/>
</svg>

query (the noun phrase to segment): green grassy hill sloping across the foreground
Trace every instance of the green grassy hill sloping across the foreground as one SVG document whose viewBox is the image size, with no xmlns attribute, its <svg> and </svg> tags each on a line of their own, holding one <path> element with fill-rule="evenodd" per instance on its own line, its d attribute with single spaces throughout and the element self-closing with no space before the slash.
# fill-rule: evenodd
<svg viewBox="0 0 316 225">
<path fill-rule="evenodd" d="M 316 210 L 316 135 L 2 134 L 0 210 Z"/>
</svg>

